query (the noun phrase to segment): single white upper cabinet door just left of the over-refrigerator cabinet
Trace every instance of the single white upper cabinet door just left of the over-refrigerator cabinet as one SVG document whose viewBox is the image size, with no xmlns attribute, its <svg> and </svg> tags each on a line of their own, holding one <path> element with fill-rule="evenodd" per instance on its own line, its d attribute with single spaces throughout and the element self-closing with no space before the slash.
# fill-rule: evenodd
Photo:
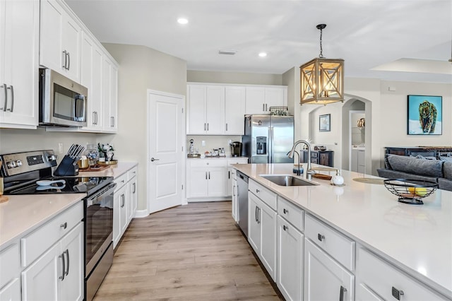
<svg viewBox="0 0 452 301">
<path fill-rule="evenodd" d="M 225 134 L 244 134 L 245 87 L 225 87 Z"/>
</svg>

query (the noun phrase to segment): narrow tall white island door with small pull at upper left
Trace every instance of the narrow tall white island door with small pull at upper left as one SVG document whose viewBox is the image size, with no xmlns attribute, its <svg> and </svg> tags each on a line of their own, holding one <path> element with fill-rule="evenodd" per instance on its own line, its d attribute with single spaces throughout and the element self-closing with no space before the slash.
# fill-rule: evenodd
<svg viewBox="0 0 452 301">
<path fill-rule="evenodd" d="M 303 298 L 302 232 L 278 216 L 278 281 L 285 300 Z"/>
</svg>

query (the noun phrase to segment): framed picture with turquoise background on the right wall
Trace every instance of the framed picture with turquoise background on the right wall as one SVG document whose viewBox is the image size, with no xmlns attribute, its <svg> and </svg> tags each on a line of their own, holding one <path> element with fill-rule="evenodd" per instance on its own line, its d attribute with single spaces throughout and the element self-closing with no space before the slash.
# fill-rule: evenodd
<svg viewBox="0 0 452 301">
<path fill-rule="evenodd" d="M 408 135 L 443 134 L 443 98 L 441 96 L 408 95 Z"/>
</svg>

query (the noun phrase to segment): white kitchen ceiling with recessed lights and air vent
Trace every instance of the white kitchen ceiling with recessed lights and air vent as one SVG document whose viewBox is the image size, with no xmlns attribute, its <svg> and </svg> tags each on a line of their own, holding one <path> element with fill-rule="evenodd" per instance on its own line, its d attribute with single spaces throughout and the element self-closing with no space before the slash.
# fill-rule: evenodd
<svg viewBox="0 0 452 301">
<path fill-rule="evenodd" d="M 323 56 L 345 59 L 345 76 L 452 83 L 451 0 L 66 3 L 101 42 L 145 45 L 184 59 L 189 70 L 284 73 L 319 56 L 316 25 L 326 23 Z"/>
</svg>

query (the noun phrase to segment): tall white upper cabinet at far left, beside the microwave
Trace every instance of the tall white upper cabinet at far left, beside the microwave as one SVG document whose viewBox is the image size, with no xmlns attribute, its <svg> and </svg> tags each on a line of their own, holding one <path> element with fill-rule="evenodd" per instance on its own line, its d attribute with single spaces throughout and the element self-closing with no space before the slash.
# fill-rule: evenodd
<svg viewBox="0 0 452 301">
<path fill-rule="evenodd" d="M 0 127 L 36 129 L 39 1 L 0 1 Z"/>
</svg>

